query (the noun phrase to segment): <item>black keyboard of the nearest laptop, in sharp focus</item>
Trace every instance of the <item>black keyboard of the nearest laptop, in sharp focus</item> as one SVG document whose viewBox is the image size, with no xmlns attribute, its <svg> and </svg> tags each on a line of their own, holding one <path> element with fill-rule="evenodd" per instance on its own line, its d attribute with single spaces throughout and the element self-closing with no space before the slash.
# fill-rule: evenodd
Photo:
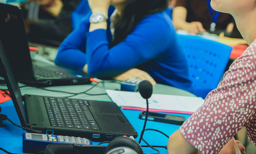
<svg viewBox="0 0 256 154">
<path fill-rule="evenodd" d="M 51 126 L 99 130 L 87 100 L 44 97 Z"/>
</svg>

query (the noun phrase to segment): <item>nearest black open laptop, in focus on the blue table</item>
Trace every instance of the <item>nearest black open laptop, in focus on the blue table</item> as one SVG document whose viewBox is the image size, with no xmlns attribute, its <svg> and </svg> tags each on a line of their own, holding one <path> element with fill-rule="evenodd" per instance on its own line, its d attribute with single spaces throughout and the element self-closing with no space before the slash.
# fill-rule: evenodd
<svg viewBox="0 0 256 154">
<path fill-rule="evenodd" d="M 114 102 L 21 95 L 0 39 L 0 69 L 24 127 L 55 135 L 110 141 L 118 136 L 138 136 Z M 2 68 L 1 68 L 2 67 Z M 24 102 L 24 103 L 23 103 Z"/>
</svg>

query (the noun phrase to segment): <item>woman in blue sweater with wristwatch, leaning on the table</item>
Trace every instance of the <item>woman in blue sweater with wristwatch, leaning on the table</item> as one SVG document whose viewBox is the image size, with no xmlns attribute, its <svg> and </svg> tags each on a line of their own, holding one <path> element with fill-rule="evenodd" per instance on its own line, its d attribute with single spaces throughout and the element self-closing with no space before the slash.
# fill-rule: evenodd
<svg viewBox="0 0 256 154">
<path fill-rule="evenodd" d="M 59 46 L 57 65 L 97 78 L 152 77 L 157 83 L 190 91 L 187 62 L 164 11 L 167 0 L 88 2 L 92 15 Z"/>
</svg>

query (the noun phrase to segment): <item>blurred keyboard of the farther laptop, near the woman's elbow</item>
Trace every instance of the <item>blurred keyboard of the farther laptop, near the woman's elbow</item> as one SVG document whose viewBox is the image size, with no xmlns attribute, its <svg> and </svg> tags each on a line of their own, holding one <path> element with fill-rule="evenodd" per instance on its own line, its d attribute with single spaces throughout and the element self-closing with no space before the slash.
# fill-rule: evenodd
<svg viewBox="0 0 256 154">
<path fill-rule="evenodd" d="M 44 67 L 33 65 L 33 70 L 36 75 L 44 78 L 73 78 L 72 75 L 58 70 L 50 70 Z"/>
</svg>

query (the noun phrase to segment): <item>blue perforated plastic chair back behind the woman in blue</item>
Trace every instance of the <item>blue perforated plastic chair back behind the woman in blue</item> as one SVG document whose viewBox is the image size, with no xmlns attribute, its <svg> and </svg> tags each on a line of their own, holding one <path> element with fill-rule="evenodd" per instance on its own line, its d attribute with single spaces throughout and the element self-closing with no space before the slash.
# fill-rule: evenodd
<svg viewBox="0 0 256 154">
<path fill-rule="evenodd" d="M 177 37 L 188 62 L 193 93 L 205 98 L 221 81 L 232 47 L 200 36 Z"/>
</svg>

